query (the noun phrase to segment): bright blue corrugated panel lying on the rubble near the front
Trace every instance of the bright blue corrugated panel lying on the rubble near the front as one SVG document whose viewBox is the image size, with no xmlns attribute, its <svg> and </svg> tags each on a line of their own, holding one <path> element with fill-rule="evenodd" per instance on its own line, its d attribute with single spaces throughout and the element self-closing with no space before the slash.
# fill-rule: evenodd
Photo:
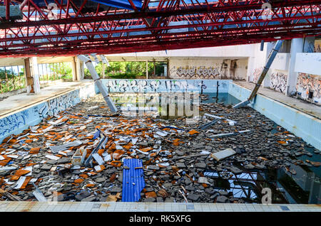
<svg viewBox="0 0 321 226">
<path fill-rule="evenodd" d="M 123 169 L 123 194 L 122 202 L 138 202 L 141 198 L 141 190 L 145 187 L 143 161 L 137 158 L 124 159 L 123 166 L 129 169 Z"/>
</svg>

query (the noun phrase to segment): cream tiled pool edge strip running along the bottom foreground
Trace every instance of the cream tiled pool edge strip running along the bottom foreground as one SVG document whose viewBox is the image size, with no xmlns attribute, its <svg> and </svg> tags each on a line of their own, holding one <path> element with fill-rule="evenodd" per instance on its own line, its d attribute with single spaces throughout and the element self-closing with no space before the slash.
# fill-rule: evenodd
<svg viewBox="0 0 321 226">
<path fill-rule="evenodd" d="M 2 201 L 0 212 L 321 212 L 321 205 Z"/>
</svg>

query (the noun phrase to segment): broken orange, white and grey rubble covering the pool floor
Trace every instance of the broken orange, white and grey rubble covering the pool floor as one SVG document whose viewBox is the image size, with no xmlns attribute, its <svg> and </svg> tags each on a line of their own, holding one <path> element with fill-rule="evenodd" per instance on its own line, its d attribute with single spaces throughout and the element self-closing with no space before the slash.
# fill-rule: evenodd
<svg viewBox="0 0 321 226">
<path fill-rule="evenodd" d="M 194 122 L 126 117 L 91 97 L 0 144 L 0 200 L 121 201 L 124 158 L 143 161 L 143 202 L 243 203 L 205 172 L 320 166 L 297 160 L 311 146 L 282 127 L 272 134 L 274 123 L 249 107 L 200 104 L 200 114 Z M 212 157 L 226 149 L 233 154 Z"/>
</svg>

